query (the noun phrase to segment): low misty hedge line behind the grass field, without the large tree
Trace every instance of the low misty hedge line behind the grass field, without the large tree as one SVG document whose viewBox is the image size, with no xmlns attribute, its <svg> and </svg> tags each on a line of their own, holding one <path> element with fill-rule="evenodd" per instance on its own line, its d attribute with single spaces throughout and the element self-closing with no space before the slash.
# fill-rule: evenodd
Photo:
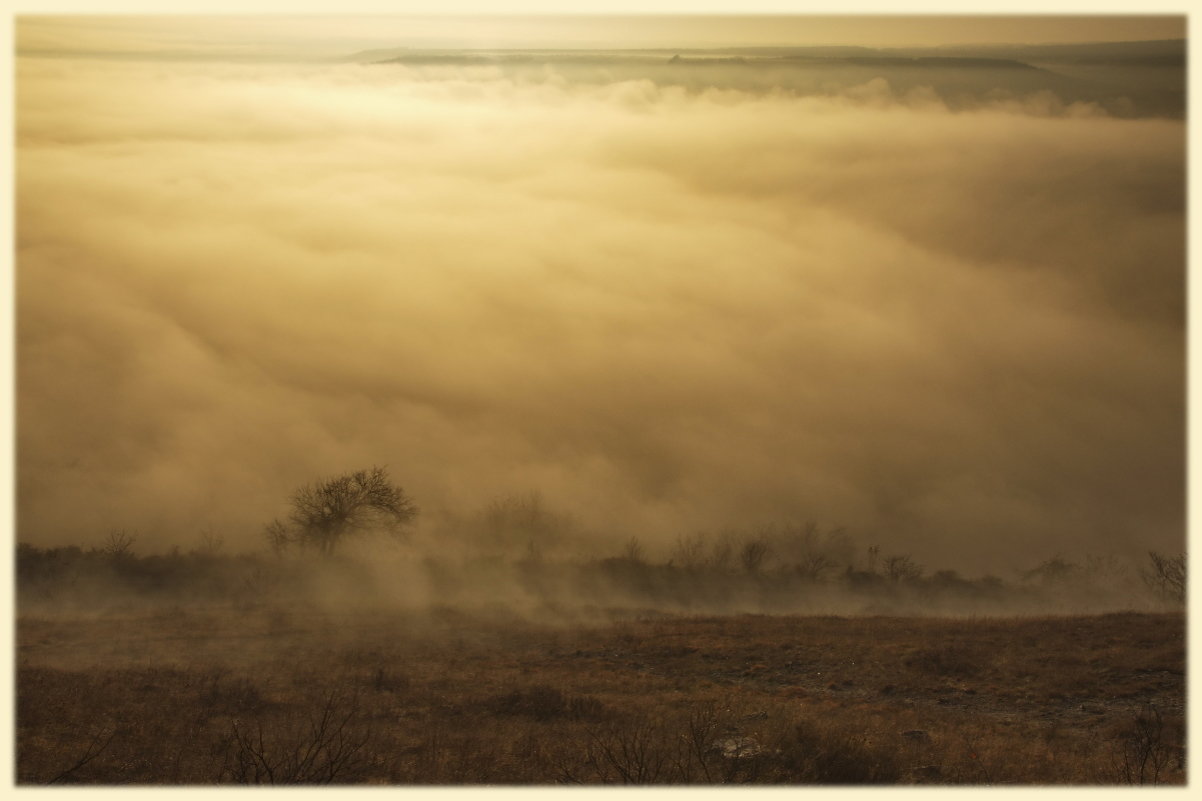
<svg viewBox="0 0 1202 801">
<path fill-rule="evenodd" d="M 1174 609 L 1184 603 L 1185 557 L 1054 554 L 1012 576 L 970 578 L 928 570 L 905 553 L 857 548 L 839 529 L 784 536 L 761 529 L 736 540 L 682 536 L 665 559 L 631 538 L 614 556 L 545 554 L 532 540 L 506 553 L 498 540 L 476 548 L 423 552 L 358 542 L 344 553 L 313 548 L 227 553 L 212 535 L 195 548 L 133 552 L 113 533 L 102 547 L 17 546 L 18 611 L 119 610 L 144 604 L 338 609 L 463 607 L 576 618 L 582 613 L 1055 615 Z M 805 534 L 809 534 L 807 538 Z M 401 583 L 419 593 L 398 594 Z"/>
</svg>

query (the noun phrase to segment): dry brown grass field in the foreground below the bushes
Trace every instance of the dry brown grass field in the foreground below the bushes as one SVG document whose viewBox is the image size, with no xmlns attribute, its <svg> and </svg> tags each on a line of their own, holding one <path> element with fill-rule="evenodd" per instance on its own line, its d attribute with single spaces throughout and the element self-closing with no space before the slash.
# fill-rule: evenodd
<svg viewBox="0 0 1202 801">
<path fill-rule="evenodd" d="M 1180 613 L 18 621 L 20 784 L 1183 784 Z"/>
</svg>

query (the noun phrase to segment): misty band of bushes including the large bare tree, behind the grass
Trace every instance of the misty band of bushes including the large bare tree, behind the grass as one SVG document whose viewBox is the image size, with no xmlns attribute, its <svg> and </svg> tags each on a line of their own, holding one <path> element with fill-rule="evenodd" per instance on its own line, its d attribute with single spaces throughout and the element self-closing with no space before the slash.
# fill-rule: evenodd
<svg viewBox="0 0 1202 801">
<path fill-rule="evenodd" d="M 689 613 L 1012 615 L 1180 609 L 1185 554 L 1070 560 L 1048 554 L 1004 580 L 928 571 L 904 551 L 862 545 L 815 522 L 679 535 L 659 558 L 637 536 L 615 550 L 537 493 L 510 496 L 422 533 L 417 505 L 383 468 L 297 489 L 287 521 L 264 528 L 268 551 L 231 554 L 204 532 L 197 547 L 138 554 L 137 536 L 100 547 L 17 547 L 18 600 L 36 612 L 163 603 L 332 601 L 401 609 L 432 603 L 507 606 L 572 618 L 614 609 Z M 608 545 L 603 545 L 608 544 Z M 328 605 L 328 604 L 327 604 Z"/>
</svg>

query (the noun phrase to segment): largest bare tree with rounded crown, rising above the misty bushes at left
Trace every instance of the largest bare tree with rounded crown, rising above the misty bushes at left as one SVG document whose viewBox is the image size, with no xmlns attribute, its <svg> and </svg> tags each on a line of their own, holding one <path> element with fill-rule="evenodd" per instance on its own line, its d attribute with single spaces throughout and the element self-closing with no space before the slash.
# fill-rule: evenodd
<svg viewBox="0 0 1202 801">
<path fill-rule="evenodd" d="M 267 536 L 273 547 L 297 542 L 329 556 L 347 535 L 369 528 L 401 532 L 417 511 L 388 471 L 376 467 L 300 487 L 292 496 L 291 526 L 273 521 Z"/>
</svg>

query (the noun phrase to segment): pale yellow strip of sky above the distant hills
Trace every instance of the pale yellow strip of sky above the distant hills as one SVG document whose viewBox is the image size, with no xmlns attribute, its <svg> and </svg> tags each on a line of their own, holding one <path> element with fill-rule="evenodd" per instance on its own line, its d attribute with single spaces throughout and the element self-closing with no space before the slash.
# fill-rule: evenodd
<svg viewBox="0 0 1202 801">
<path fill-rule="evenodd" d="M 322 13 L 191 17 L 165 26 L 161 17 L 30 18 L 18 46 L 29 52 L 96 51 L 169 55 L 303 53 L 339 55 L 371 47 L 726 47 L 847 44 L 1065 43 L 1184 38 L 1182 16 L 799 16 L 762 13 L 630 17 L 535 14 L 356 16 Z"/>
</svg>

